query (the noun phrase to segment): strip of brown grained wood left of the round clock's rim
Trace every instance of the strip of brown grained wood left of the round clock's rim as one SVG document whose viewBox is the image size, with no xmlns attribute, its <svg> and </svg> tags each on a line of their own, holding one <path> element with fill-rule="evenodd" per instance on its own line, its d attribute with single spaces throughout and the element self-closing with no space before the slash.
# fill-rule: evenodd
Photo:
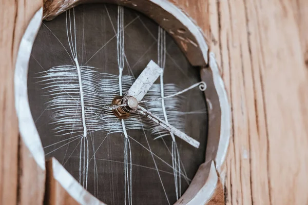
<svg viewBox="0 0 308 205">
<path fill-rule="evenodd" d="M 0 204 L 34 204 L 37 196 L 31 191 L 36 189 L 37 180 L 29 173 L 33 176 L 35 167 L 33 161 L 28 161 L 29 152 L 23 141 L 18 139 L 13 78 L 21 38 L 42 2 L 4 0 L 0 4 Z M 42 197 L 41 194 L 41 201 Z"/>
</svg>

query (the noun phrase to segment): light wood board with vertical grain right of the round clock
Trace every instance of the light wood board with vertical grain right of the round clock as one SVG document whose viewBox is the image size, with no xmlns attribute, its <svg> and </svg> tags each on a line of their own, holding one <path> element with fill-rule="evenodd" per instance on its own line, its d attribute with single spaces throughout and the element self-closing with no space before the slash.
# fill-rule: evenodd
<svg viewBox="0 0 308 205">
<path fill-rule="evenodd" d="M 308 19 L 295 18 L 287 0 L 208 3 L 210 48 L 232 105 L 226 203 L 307 204 L 308 75 L 299 26 Z"/>
</svg>

